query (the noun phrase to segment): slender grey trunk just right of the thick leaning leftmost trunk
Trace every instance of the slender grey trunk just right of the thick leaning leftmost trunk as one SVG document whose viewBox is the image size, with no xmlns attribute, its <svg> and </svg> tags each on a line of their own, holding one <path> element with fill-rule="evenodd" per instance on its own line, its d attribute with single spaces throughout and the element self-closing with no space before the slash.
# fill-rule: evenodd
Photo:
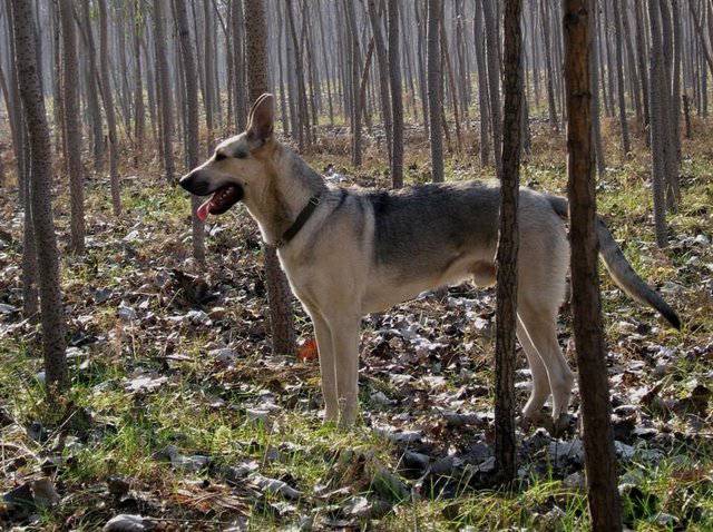
<svg viewBox="0 0 713 532">
<path fill-rule="evenodd" d="M 81 124 L 79 121 L 79 79 L 77 71 L 77 32 L 71 0 L 59 0 L 59 16 L 62 24 L 64 48 L 64 126 L 65 160 L 69 176 L 69 203 L 71 206 L 71 249 L 85 253 L 85 190 L 84 167 L 81 165 Z"/>
</svg>

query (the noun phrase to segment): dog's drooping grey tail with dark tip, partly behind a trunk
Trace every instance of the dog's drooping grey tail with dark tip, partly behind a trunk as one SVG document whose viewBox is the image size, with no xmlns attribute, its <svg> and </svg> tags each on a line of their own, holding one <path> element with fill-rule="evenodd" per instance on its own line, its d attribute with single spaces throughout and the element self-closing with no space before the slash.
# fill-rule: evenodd
<svg viewBox="0 0 713 532">
<path fill-rule="evenodd" d="M 547 199 L 558 216 L 564 219 L 569 217 L 568 203 L 565 198 L 547 196 Z M 672 327 L 681 329 L 681 318 L 676 312 L 634 272 L 622 248 L 616 244 L 612 233 L 598 215 L 596 231 L 599 239 L 599 255 L 602 255 L 606 269 L 616 285 L 633 299 L 656 309 Z"/>
</svg>

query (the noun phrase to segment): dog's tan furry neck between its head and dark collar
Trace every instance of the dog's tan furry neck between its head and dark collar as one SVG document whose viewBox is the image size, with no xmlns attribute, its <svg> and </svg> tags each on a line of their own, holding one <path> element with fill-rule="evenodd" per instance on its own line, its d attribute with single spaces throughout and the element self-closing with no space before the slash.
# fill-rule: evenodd
<svg viewBox="0 0 713 532">
<path fill-rule="evenodd" d="M 276 142 L 276 141 L 275 141 Z M 261 199 L 246 201 L 267 244 L 282 240 L 284 233 L 310 201 L 326 190 L 326 183 L 297 154 L 276 142 L 272 159 L 272 176 Z"/>
</svg>

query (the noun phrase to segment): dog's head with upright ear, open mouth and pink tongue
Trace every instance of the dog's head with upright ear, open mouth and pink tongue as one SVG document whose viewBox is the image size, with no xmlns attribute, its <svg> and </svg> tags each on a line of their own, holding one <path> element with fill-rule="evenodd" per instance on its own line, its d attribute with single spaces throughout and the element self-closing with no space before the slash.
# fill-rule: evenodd
<svg viewBox="0 0 713 532">
<path fill-rule="evenodd" d="M 197 210 L 202 220 L 208 214 L 221 215 L 237 201 L 262 197 L 272 177 L 271 159 L 275 98 L 263 95 L 253 105 L 247 129 L 224 140 L 203 165 L 180 178 L 178 184 L 196 196 L 208 196 Z"/>
</svg>

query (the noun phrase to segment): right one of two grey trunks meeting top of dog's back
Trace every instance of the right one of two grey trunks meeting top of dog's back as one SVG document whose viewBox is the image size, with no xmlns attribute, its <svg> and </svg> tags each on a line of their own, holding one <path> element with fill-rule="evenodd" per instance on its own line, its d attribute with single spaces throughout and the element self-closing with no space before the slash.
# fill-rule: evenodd
<svg viewBox="0 0 713 532">
<path fill-rule="evenodd" d="M 441 0 L 428 0 L 427 71 L 428 71 L 428 117 L 431 140 L 431 176 L 433 183 L 443 181 L 443 138 L 441 110 L 443 107 L 440 51 Z"/>
</svg>

